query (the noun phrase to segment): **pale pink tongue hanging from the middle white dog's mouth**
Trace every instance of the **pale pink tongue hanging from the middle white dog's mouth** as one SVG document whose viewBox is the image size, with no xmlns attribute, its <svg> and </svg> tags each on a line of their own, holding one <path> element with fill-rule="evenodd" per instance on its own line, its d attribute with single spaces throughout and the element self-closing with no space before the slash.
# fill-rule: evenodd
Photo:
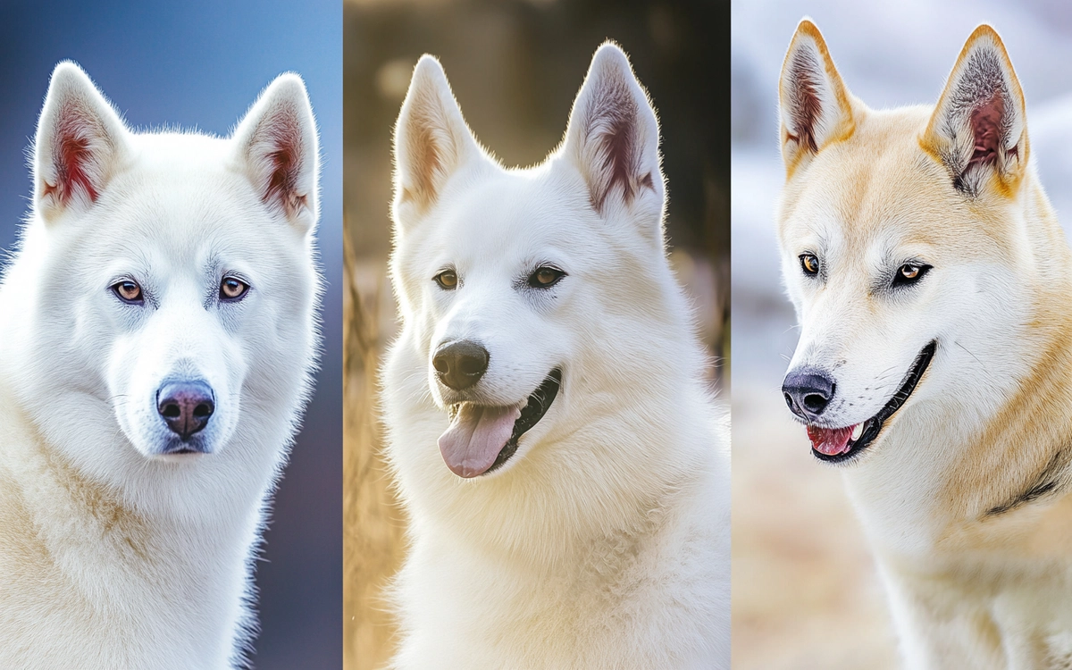
<svg viewBox="0 0 1072 670">
<path fill-rule="evenodd" d="M 462 403 L 450 428 L 440 435 L 440 452 L 450 472 L 465 478 L 488 472 L 520 416 L 518 407 Z"/>
</svg>

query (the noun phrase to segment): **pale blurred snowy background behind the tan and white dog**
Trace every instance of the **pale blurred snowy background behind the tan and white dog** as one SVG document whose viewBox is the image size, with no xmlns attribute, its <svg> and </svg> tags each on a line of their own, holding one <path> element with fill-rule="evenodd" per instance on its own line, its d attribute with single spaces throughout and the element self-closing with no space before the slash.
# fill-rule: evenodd
<svg viewBox="0 0 1072 670">
<path fill-rule="evenodd" d="M 1032 160 L 1072 223 L 1072 4 L 1058 0 L 735 2 L 731 10 L 733 667 L 893 668 L 880 584 L 838 475 L 812 460 L 780 399 L 796 339 L 774 208 L 777 81 L 802 16 L 870 107 L 934 104 L 980 23 L 1001 34 L 1027 98 Z"/>
</svg>

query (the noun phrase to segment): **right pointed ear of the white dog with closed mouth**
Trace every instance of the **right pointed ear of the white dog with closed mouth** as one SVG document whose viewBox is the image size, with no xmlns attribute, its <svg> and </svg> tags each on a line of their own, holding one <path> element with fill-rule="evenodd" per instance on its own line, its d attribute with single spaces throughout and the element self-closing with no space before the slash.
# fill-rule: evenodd
<svg viewBox="0 0 1072 670">
<path fill-rule="evenodd" d="M 300 230 L 319 215 L 316 119 L 301 77 L 281 74 L 235 130 L 239 164 L 269 207 Z"/>
</svg>

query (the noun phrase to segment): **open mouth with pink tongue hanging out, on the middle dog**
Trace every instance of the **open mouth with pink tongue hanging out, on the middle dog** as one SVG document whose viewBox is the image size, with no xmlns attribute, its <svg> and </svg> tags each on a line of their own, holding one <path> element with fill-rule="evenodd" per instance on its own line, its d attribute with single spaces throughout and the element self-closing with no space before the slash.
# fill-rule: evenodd
<svg viewBox="0 0 1072 670">
<path fill-rule="evenodd" d="M 440 435 L 440 452 L 447 467 L 466 479 L 502 467 L 517 452 L 521 435 L 547 414 L 561 386 L 562 370 L 555 368 L 523 407 L 471 402 L 451 405 L 450 427 Z"/>
</svg>

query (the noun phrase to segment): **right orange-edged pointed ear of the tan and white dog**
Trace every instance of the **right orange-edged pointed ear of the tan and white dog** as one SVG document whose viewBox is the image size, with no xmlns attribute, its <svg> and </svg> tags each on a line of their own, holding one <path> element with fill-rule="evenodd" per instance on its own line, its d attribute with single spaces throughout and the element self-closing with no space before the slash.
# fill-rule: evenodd
<svg viewBox="0 0 1072 670">
<path fill-rule="evenodd" d="M 1018 183 L 1028 159 L 1024 91 L 989 26 L 968 38 L 921 142 L 966 195 L 992 179 L 1004 190 Z"/>
</svg>

